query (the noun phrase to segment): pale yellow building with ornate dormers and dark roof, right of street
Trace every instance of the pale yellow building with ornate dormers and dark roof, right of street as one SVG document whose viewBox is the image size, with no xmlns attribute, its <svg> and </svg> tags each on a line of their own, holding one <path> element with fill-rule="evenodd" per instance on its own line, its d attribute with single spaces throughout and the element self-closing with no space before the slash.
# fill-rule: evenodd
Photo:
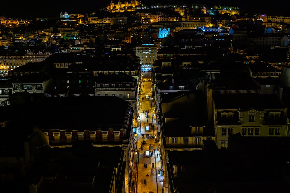
<svg viewBox="0 0 290 193">
<path fill-rule="evenodd" d="M 213 121 L 218 148 L 228 148 L 228 136 L 287 136 L 286 108 L 272 94 L 217 94 Z"/>
</svg>

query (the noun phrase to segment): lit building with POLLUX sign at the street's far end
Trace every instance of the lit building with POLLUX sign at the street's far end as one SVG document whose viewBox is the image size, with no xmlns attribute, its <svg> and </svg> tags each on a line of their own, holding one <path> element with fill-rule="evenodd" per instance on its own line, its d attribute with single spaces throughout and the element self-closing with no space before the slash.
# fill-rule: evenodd
<svg viewBox="0 0 290 193">
<path fill-rule="evenodd" d="M 136 56 L 140 57 L 140 65 L 142 71 L 152 70 L 153 61 L 157 57 L 156 45 L 153 43 L 144 43 L 136 45 Z"/>
</svg>

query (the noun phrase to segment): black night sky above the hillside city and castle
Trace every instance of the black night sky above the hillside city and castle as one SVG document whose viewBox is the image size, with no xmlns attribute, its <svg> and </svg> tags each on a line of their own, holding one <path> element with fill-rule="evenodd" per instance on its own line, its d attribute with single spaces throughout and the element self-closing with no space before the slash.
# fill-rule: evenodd
<svg viewBox="0 0 290 193">
<path fill-rule="evenodd" d="M 124 0 L 123 0 L 124 1 Z M 122 1 L 122 2 L 123 2 Z M 129 0 L 130 2 L 131 0 Z M 110 0 L 87 0 L 87 1 L 79 1 L 80 3 L 65 2 L 65 3 L 57 3 L 58 1 L 22 1 L 25 3 L 19 2 L 16 4 L 10 4 L 11 1 L 1 2 L 0 6 L 4 9 L 1 9 L 0 15 L 6 17 L 20 17 L 26 19 L 29 17 L 37 18 L 37 17 L 57 17 L 59 12 L 68 12 L 68 13 L 87 13 L 98 10 L 99 8 L 103 8 L 106 5 L 110 4 Z M 61 2 L 61 1 L 59 1 Z M 113 0 L 114 3 L 117 3 L 118 0 Z M 226 5 L 226 6 L 237 6 L 242 10 L 255 11 L 260 13 L 268 13 L 274 14 L 280 12 L 281 14 L 287 13 L 288 6 L 286 4 L 267 4 L 263 1 L 213 1 L 213 0 L 204 0 L 204 1 L 189 1 L 189 0 L 142 0 L 141 3 L 204 3 L 204 4 L 212 4 L 212 5 Z M 279 1 L 282 2 L 282 1 Z M 44 6 L 47 3 L 47 6 Z M 280 11 L 279 11 L 280 10 Z"/>
</svg>

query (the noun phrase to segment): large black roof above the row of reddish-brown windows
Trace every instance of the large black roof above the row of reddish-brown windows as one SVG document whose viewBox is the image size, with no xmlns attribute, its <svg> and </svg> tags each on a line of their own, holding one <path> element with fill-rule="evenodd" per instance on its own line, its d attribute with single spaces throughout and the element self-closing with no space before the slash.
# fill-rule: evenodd
<svg viewBox="0 0 290 193">
<path fill-rule="evenodd" d="M 99 125 L 99 128 L 106 129 L 124 127 L 129 102 L 115 96 L 43 97 L 28 105 L 29 108 L 21 108 L 23 111 L 15 124 L 33 124 L 41 129 L 69 129 L 74 125 L 81 129 L 84 125 Z M 31 117 L 34 121 L 27 121 Z"/>
</svg>

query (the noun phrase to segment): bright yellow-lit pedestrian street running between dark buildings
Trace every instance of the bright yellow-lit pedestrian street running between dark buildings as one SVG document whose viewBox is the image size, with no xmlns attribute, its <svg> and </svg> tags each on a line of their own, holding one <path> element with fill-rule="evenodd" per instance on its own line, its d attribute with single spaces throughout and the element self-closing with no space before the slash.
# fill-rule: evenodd
<svg viewBox="0 0 290 193">
<path fill-rule="evenodd" d="M 136 143 L 132 176 L 134 185 L 131 187 L 130 192 L 162 193 L 163 174 L 159 172 L 159 170 L 162 171 L 162 166 L 158 143 L 159 135 L 157 135 L 156 130 L 155 103 L 154 99 L 151 98 L 151 72 L 142 72 L 141 77 L 140 105 L 138 110 L 140 117 L 138 118 L 138 125 L 136 126 L 136 134 L 138 136 L 135 137 Z M 148 115 L 146 115 L 147 113 Z M 142 134 L 144 134 L 144 138 L 142 138 Z M 149 136 L 146 137 L 146 134 Z M 143 145 L 144 140 L 146 143 Z M 147 164 L 147 168 L 145 168 L 144 163 Z"/>
</svg>

